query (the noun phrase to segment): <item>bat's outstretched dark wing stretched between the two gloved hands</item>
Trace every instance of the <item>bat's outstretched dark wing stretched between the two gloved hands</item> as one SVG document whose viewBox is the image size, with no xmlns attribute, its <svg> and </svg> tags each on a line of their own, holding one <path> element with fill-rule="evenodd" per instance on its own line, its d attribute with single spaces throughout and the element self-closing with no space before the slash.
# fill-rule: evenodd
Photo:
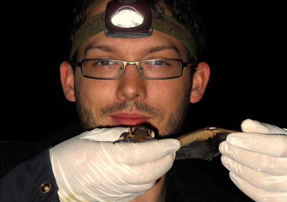
<svg viewBox="0 0 287 202">
<path fill-rule="evenodd" d="M 219 144 L 226 140 L 230 133 L 238 131 L 216 127 L 206 127 L 179 136 L 181 148 L 176 152 L 175 160 L 204 159 L 211 161 L 220 154 Z"/>
</svg>

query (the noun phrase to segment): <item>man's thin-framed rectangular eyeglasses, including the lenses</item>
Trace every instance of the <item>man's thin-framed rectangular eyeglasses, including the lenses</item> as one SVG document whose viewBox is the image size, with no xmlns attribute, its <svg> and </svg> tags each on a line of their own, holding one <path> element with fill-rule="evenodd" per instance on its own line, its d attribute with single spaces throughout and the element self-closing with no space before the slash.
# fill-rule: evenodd
<svg viewBox="0 0 287 202">
<path fill-rule="evenodd" d="M 196 64 L 190 62 L 189 67 Z M 142 60 L 138 62 L 125 62 L 108 59 L 87 59 L 77 62 L 82 74 L 86 78 L 92 79 L 119 79 L 127 65 L 136 65 L 141 78 L 144 79 L 172 79 L 181 76 L 182 69 L 189 63 L 174 59 Z"/>
</svg>

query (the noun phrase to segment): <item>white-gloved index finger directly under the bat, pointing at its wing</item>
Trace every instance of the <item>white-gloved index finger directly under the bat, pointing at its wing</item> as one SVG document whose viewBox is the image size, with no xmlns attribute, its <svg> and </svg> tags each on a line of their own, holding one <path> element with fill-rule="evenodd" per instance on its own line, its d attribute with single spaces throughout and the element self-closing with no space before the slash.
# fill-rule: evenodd
<svg viewBox="0 0 287 202">
<path fill-rule="evenodd" d="M 181 143 L 177 139 L 161 139 L 140 143 L 120 142 L 112 146 L 114 152 L 121 153 L 121 155 L 117 155 L 119 162 L 125 165 L 140 165 L 161 159 L 177 151 Z"/>
</svg>

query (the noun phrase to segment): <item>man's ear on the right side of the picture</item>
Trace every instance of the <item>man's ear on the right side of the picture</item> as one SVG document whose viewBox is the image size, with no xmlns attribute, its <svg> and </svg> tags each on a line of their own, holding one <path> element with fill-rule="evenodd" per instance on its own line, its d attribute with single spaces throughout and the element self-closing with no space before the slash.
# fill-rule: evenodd
<svg viewBox="0 0 287 202">
<path fill-rule="evenodd" d="M 210 68 L 206 62 L 198 63 L 197 68 L 198 70 L 193 75 L 190 92 L 191 103 L 196 103 L 201 100 L 210 76 Z"/>
</svg>

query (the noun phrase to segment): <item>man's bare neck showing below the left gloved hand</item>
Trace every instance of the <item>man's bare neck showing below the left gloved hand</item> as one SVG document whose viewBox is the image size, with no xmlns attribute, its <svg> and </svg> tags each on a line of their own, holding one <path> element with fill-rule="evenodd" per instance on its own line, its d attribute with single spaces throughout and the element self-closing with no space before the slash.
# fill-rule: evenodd
<svg viewBox="0 0 287 202">
<path fill-rule="evenodd" d="M 152 189 L 149 189 L 146 193 L 134 198 L 130 202 L 138 202 L 138 201 L 164 202 L 165 191 L 166 191 L 166 183 L 165 183 L 166 176 L 167 174 L 164 174 L 164 176 L 156 180 L 155 186 L 153 186 Z"/>
</svg>

